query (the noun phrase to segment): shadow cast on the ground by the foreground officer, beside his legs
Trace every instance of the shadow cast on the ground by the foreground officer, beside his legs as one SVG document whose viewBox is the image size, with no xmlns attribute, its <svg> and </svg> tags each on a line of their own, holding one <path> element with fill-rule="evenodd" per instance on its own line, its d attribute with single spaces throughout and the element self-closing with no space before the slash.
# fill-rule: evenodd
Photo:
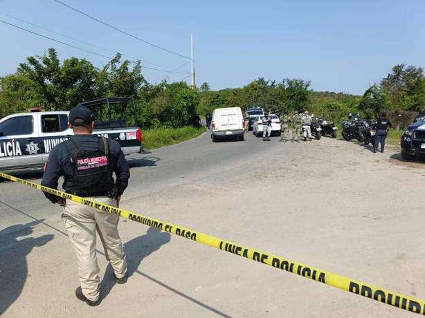
<svg viewBox="0 0 425 318">
<path fill-rule="evenodd" d="M 145 235 L 138 236 L 125 243 L 124 250 L 127 259 L 127 276 L 132 277 L 145 257 L 159 250 L 162 245 L 170 241 L 170 233 L 161 232 L 154 227 L 150 227 L 147 229 Z M 107 297 L 107 294 L 109 294 L 111 288 L 113 288 L 115 284 L 116 279 L 114 277 L 114 271 L 111 265 L 108 265 L 105 276 L 102 279 L 100 299 Z"/>
</svg>

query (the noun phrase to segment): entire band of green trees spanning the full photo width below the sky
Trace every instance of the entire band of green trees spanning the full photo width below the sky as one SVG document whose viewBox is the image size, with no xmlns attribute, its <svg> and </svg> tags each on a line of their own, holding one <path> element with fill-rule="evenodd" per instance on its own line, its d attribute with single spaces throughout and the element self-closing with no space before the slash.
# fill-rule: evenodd
<svg viewBox="0 0 425 318">
<path fill-rule="evenodd" d="M 204 82 L 198 91 L 185 82 L 150 84 L 142 69 L 141 62 L 122 61 L 119 53 L 102 69 L 76 57 L 61 63 L 56 50 L 50 48 L 43 56 L 27 57 L 15 73 L 0 77 L 0 118 L 31 106 L 42 106 L 45 111 L 69 110 L 85 100 L 127 96 L 135 97 L 138 122 L 144 129 L 184 127 L 191 124 L 196 112 L 204 115 L 228 106 L 260 106 L 281 112 L 308 109 L 337 121 L 350 112 L 374 118 L 383 110 L 400 113 L 425 108 L 423 69 L 405 64 L 394 66 L 363 96 L 314 92 L 303 79 L 276 82 L 262 77 L 243 88 L 221 91 L 210 91 Z"/>
</svg>

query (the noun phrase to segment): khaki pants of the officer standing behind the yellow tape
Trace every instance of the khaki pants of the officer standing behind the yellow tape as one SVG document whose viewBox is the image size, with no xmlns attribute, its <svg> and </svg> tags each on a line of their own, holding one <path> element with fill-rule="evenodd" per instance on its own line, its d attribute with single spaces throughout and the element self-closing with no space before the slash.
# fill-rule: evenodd
<svg viewBox="0 0 425 318">
<path fill-rule="evenodd" d="M 116 200 L 105 196 L 88 199 L 116 206 Z M 117 228 L 119 217 L 69 200 L 66 201 L 62 218 L 66 233 L 73 244 L 75 256 L 77 256 L 82 293 L 87 299 L 96 301 L 99 299 L 100 288 L 99 267 L 96 258 L 96 232 L 99 234 L 105 256 L 111 264 L 115 276 L 121 278 L 127 272 L 123 244 Z"/>
</svg>

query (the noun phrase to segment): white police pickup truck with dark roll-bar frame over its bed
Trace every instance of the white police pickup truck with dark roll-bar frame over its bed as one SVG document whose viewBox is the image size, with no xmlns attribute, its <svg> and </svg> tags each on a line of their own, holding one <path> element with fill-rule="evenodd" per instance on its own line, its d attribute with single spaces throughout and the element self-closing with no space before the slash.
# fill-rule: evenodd
<svg viewBox="0 0 425 318">
<path fill-rule="evenodd" d="M 93 112 L 95 117 L 93 133 L 119 142 L 125 155 L 141 153 L 141 130 L 138 127 L 127 127 L 125 120 L 111 120 L 111 105 L 123 100 L 128 102 L 132 98 L 104 98 L 82 104 L 92 108 L 101 102 L 100 105 L 109 109 L 106 114 L 107 120 L 96 120 L 96 112 Z M 0 170 L 43 167 L 51 149 L 73 135 L 72 129 L 68 127 L 68 113 L 69 111 L 17 113 L 1 119 Z M 137 124 L 135 113 L 134 117 Z"/>
</svg>

